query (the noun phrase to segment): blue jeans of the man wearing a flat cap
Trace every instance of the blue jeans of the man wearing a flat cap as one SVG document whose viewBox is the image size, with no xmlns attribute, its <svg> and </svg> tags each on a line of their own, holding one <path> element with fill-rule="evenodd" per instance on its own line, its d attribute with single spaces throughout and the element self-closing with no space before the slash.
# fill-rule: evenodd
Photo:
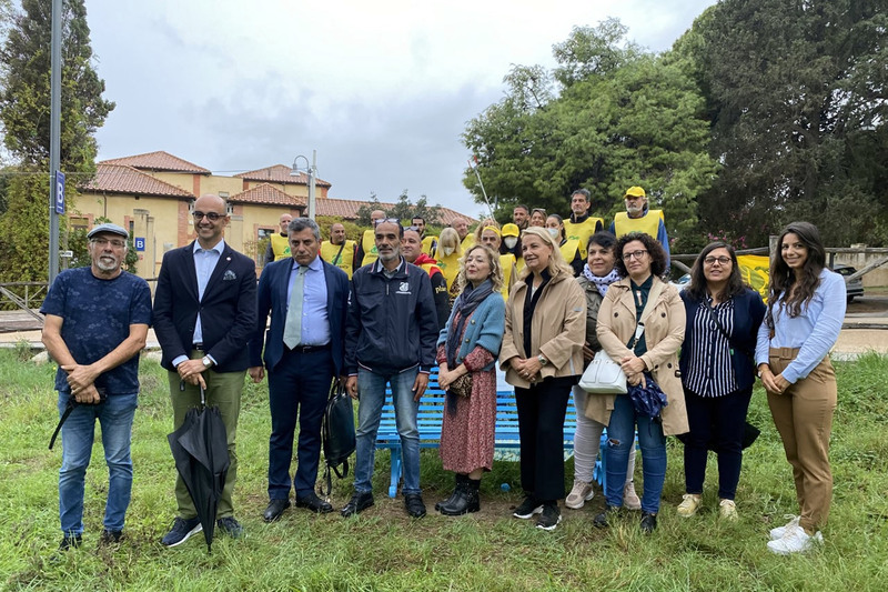
<svg viewBox="0 0 888 592">
<path fill-rule="evenodd" d="M 59 415 L 68 404 L 59 393 Z M 132 491 L 130 440 L 138 394 L 112 394 L 98 405 L 77 405 L 62 425 L 62 468 L 59 470 L 59 520 L 64 534 L 83 533 L 83 489 L 90 465 L 95 420 L 102 427 L 102 448 L 108 464 L 108 502 L 104 528 L 123 530 Z"/>
</svg>

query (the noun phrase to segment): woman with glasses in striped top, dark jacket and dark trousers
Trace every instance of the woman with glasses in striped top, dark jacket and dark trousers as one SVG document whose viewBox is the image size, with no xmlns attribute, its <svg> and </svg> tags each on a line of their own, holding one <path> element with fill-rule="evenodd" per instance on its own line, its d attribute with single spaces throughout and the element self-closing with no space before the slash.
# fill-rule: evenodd
<svg viewBox="0 0 888 592">
<path fill-rule="evenodd" d="M 734 248 L 724 242 L 706 245 L 697 257 L 682 300 L 687 324 L 679 367 L 690 431 L 683 437 L 687 493 L 678 515 L 692 516 L 703 504 L 706 456 L 713 441 L 718 454 L 719 514 L 736 520 L 734 496 L 765 303 L 743 283 Z"/>
</svg>

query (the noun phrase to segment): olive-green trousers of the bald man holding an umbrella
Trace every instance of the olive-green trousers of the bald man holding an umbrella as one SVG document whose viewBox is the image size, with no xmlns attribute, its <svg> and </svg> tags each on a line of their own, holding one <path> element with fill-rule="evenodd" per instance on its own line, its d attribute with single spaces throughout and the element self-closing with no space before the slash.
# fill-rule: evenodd
<svg viewBox="0 0 888 592">
<path fill-rule="evenodd" d="M 192 351 L 191 359 L 199 360 L 203 358 L 204 353 L 200 351 Z M 201 405 L 201 389 L 185 383 L 182 390 L 182 379 L 178 372 L 169 372 L 170 380 L 170 399 L 173 404 L 173 430 L 178 430 L 185 421 L 185 414 L 189 409 L 200 408 Z M 203 372 L 203 380 L 206 382 L 206 390 L 204 395 L 206 399 L 206 407 L 219 407 L 219 414 L 222 417 L 222 423 L 225 424 L 229 440 L 229 458 L 231 464 L 229 472 L 225 475 L 225 486 L 222 490 L 222 496 L 216 506 L 216 519 L 234 515 L 234 506 L 231 502 L 231 494 L 234 491 L 234 481 L 238 478 L 238 452 L 234 443 L 235 435 L 238 434 L 238 417 L 241 413 L 241 391 L 243 391 L 243 380 L 246 371 L 241 372 L 214 372 L 208 370 Z M 198 515 L 198 510 L 194 508 L 194 502 L 191 501 L 191 494 L 188 492 L 185 482 L 176 471 L 175 479 L 175 501 L 179 506 L 179 516 L 190 520 Z"/>
</svg>

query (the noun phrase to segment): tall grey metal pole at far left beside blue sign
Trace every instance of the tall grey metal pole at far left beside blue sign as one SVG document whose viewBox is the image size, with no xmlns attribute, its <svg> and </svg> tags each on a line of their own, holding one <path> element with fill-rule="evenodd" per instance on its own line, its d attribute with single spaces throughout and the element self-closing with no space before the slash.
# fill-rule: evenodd
<svg viewBox="0 0 888 592">
<path fill-rule="evenodd" d="M 59 274 L 59 214 L 56 213 L 56 171 L 61 152 L 62 113 L 62 0 L 52 0 L 52 60 L 50 70 L 49 131 L 49 283 Z"/>
</svg>

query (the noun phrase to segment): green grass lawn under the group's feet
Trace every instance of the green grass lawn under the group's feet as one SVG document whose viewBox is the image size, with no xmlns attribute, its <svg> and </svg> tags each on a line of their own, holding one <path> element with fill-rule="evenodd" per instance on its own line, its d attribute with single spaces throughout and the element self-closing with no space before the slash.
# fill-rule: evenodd
<svg viewBox="0 0 888 592">
<path fill-rule="evenodd" d="M 482 512 L 413 521 L 389 500 L 389 454 L 377 454 L 376 506 L 352 520 L 290 510 L 274 524 L 260 518 L 266 503 L 270 430 L 265 383 L 248 385 L 239 429 L 236 515 L 239 541 L 218 538 L 212 554 L 202 539 L 163 549 L 159 539 L 174 512 L 174 468 L 167 444 L 172 412 L 163 371 L 142 363 L 143 392 L 133 429 L 135 482 L 119 549 L 98 548 L 107 471 L 100 444 L 87 474 L 87 533 L 81 549 L 52 562 L 58 525 L 61 450 L 47 444 L 58 421 L 54 368 L 0 351 L 0 588 L 3 590 L 884 590 L 888 576 L 888 358 L 867 355 L 837 364 L 839 407 L 833 434 L 835 499 L 826 544 L 805 556 L 770 554 L 767 532 L 796 511 L 790 470 L 757 391 L 750 421 L 761 437 L 747 450 L 737 508 L 723 523 L 716 512 L 716 466 L 709 461 L 706 506 L 682 520 L 682 448 L 669 439 L 669 466 L 659 528 L 642 536 L 637 516 L 595 530 L 602 496 L 564 511 L 552 533 L 511 518 L 521 501 L 516 463 L 497 462 L 482 484 Z M 426 503 L 450 493 L 451 475 L 436 451 L 424 450 Z M 640 463 L 639 463 L 640 472 Z M 567 478 L 573 475 L 568 461 Z M 640 479 L 640 476 L 638 478 Z M 509 483 L 512 491 L 501 490 Z M 335 481 L 341 508 L 351 478 Z"/>
</svg>

